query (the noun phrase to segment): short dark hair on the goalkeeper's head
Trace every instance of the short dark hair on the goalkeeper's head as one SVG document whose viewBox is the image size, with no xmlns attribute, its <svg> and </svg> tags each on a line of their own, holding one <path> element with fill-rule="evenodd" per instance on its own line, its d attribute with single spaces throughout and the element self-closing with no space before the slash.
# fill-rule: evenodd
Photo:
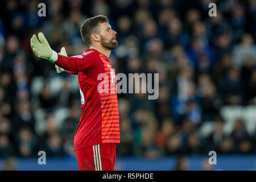
<svg viewBox="0 0 256 182">
<path fill-rule="evenodd" d="M 97 15 L 92 18 L 88 18 L 82 23 L 80 33 L 82 40 L 90 46 L 92 44 L 92 34 L 98 34 L 99 23 L 109 23 L 109 20 L 104 15 Z"/>
</svg>

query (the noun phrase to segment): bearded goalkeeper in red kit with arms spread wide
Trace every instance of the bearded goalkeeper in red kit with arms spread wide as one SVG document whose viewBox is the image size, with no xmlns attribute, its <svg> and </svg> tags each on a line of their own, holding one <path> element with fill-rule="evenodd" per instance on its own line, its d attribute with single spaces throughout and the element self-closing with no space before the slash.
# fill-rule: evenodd
<svg viewBox="0 0 256 182">
<path fill-rule="evenodd" d="M 90 47 L 79 55 L 67 57 L 51 49 L 42 32 L 33 35 L 31 48 L 36 56 L 57 65 L 57 70 L 78 75 L 81 94 L 81 117 L 74 139 L 79 170 L 115 170 L 115 144 L 120 143 L 117 80 L 109 60 L 111 50 L 118 43 L 106 16 L 86 19 L 81 25 L 82 40 Z M 104 74 L 110 86 L 102 84 L 98 75 Z M 100 89 L 100 90 L 101 90 Z"/>
</svg>

